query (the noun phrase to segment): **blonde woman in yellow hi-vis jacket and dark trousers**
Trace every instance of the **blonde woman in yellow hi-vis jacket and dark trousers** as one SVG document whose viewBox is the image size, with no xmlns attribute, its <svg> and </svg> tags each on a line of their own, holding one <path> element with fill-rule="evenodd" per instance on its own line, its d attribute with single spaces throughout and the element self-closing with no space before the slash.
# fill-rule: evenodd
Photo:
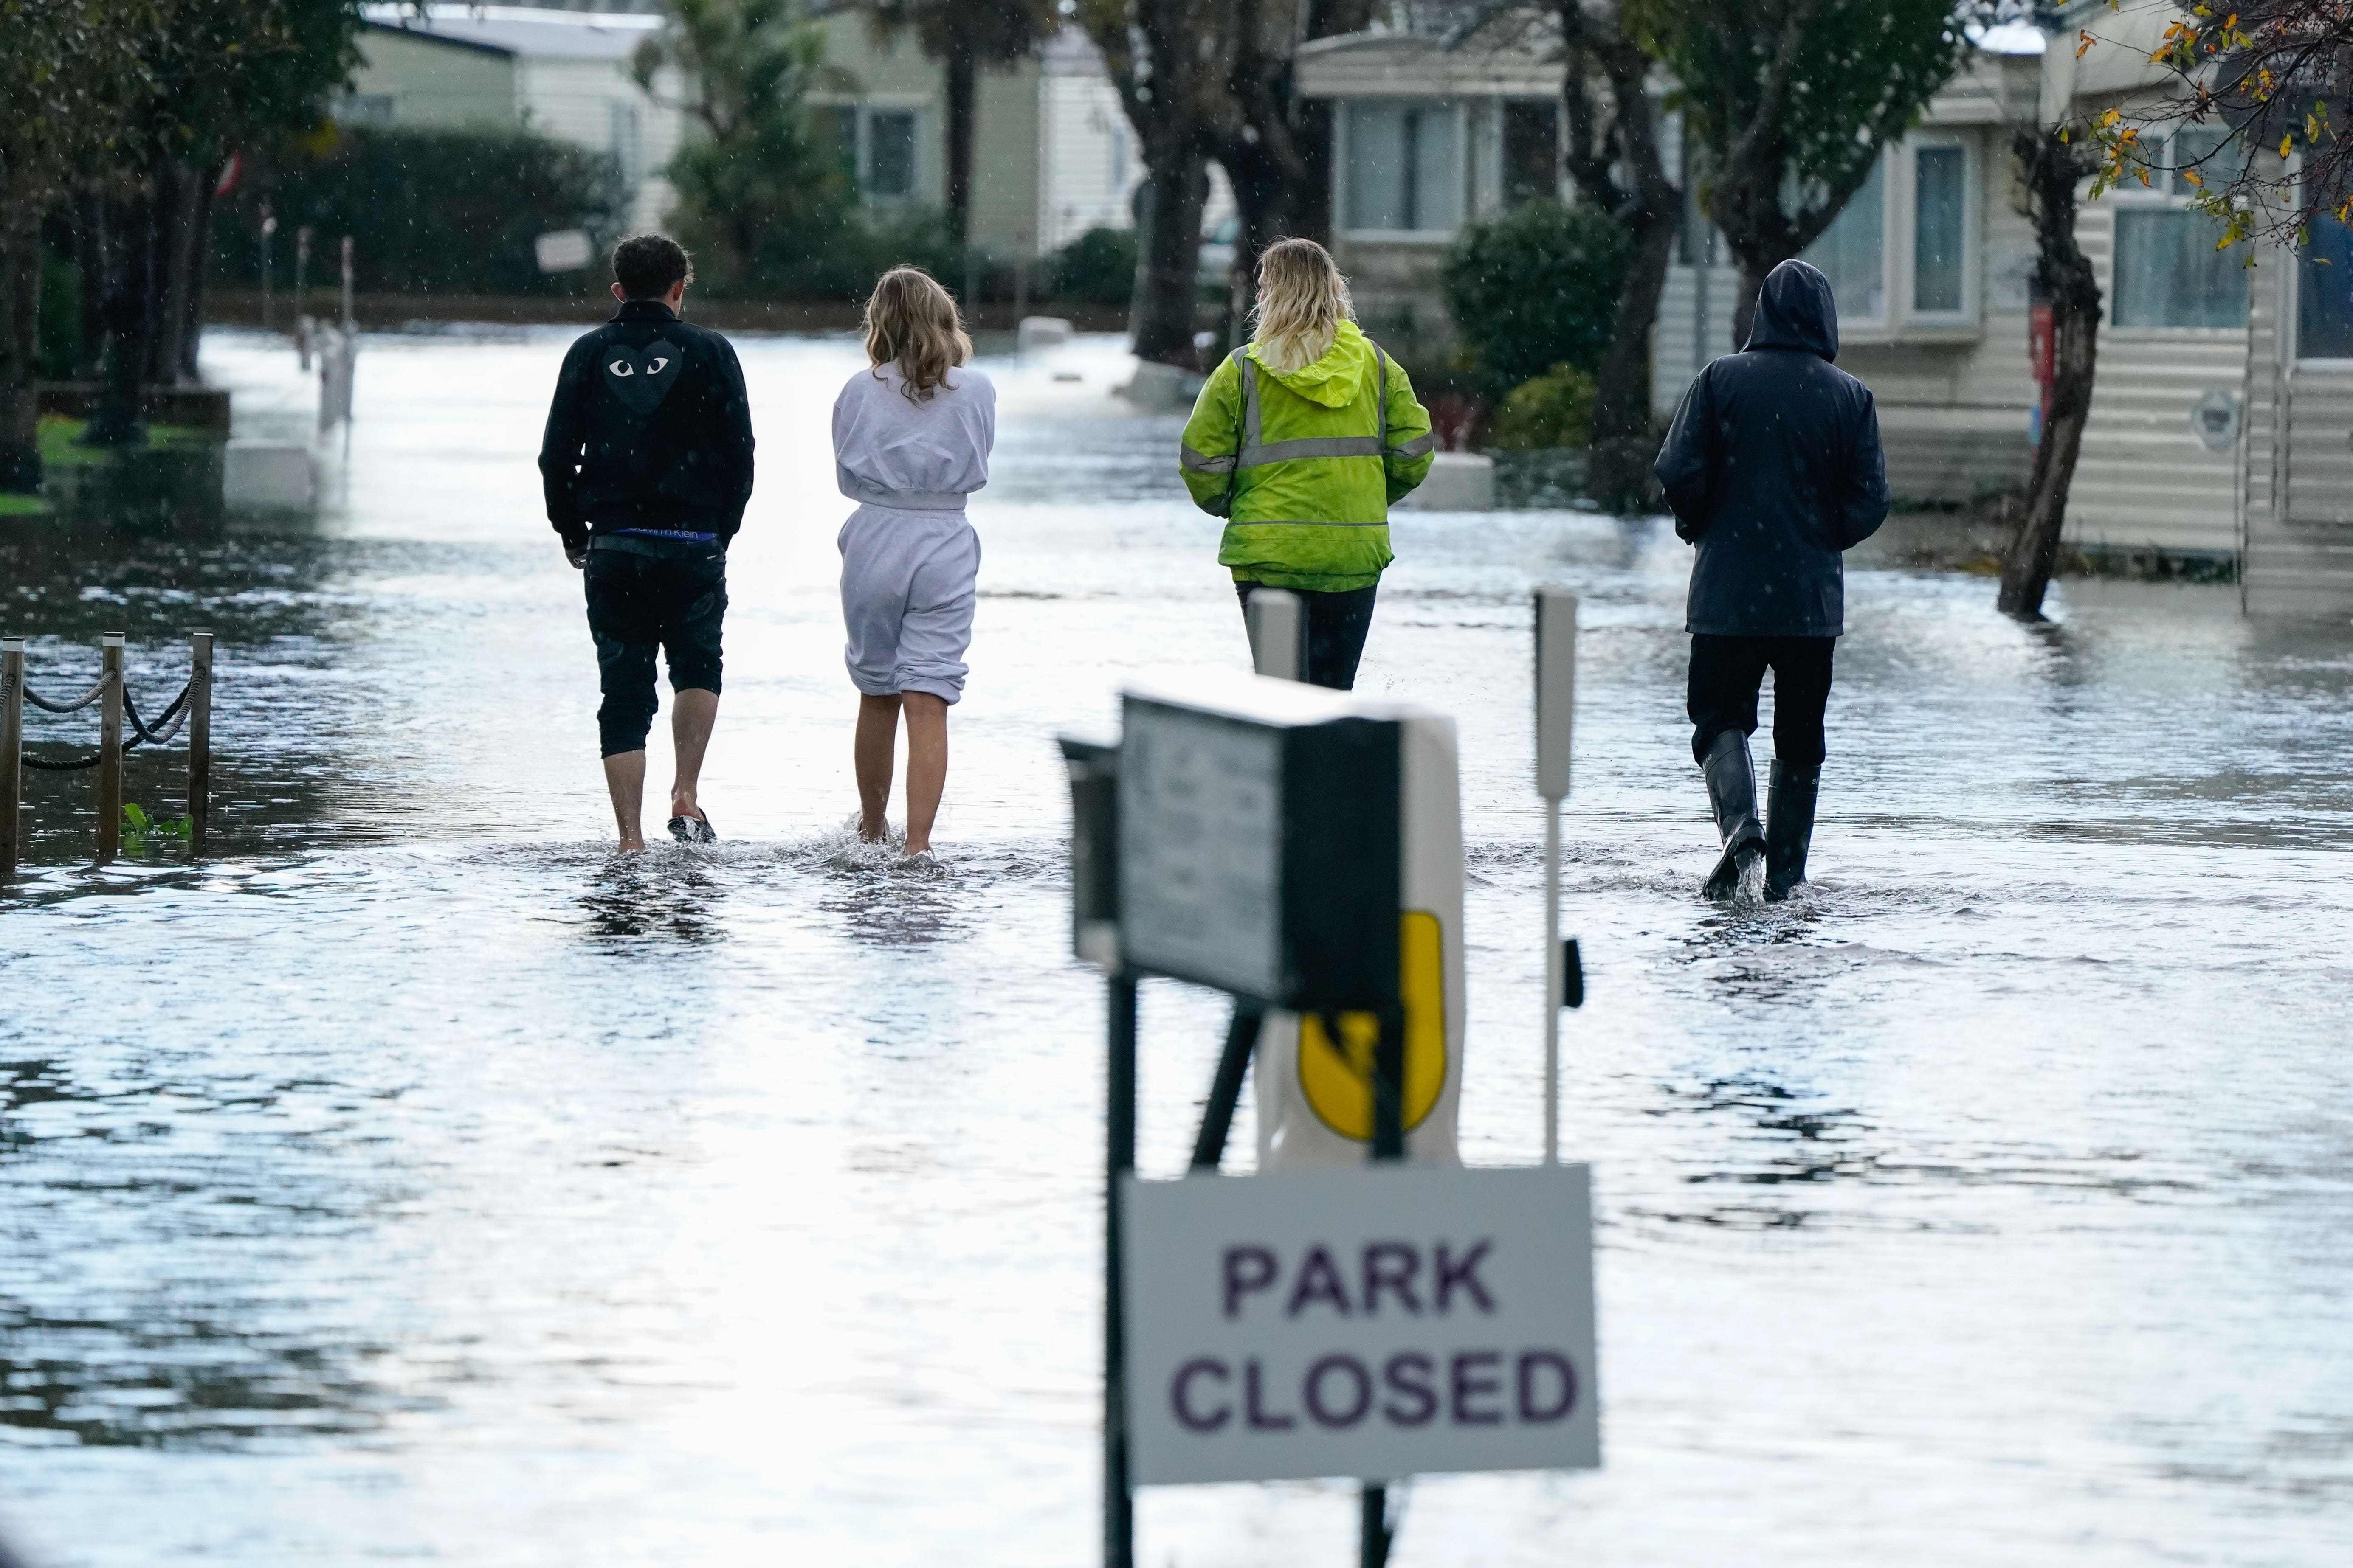
<svg viewBox="0 0 2353 1568">
<path fill-rule="evenodd" d="M 1348 280 L 1313 240 L 1259 259 L 1249 343 L 1184 428 L 1193 503 L 1226 520 L 1217 559 L 1242 604 L 1289 588 L 1306 604 L 1308 682 L 1346 691 L 1388 567 L 1388 508 L 1431 473 L 1431 416 L 1405 369 L 1358 331 Z"/>
</svg>

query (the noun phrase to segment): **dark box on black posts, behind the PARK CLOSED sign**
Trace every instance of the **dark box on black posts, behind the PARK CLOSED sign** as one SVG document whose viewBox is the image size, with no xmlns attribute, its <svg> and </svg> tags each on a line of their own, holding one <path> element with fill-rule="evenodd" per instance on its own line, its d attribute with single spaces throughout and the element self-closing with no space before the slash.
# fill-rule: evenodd
<svg viewBox="0 0 2353 1568">
<path fill-rule="evenodd" d="M 1228 693 L 1233 696 L 1233 693 Z M 1104 1568 L 1134 1568 L 1120 1178 L 1136 1164 L 1136 980 L 1228 992 L 1233 1023 L 1193 1140 L 1214 1171 L 1266 1009 L 1372 1013 L 1372 1159 L 1405 1157 L 1402 724 L 1322 693 L 1127 693 L 1120 745 L 1061 741 L 1073 950 L 1106 971 Z M 1308 708 L 1299 708 L 1308 703 Z M 1388 1486 L 1365 1481 L 1360 1561 L 1388 1561 Z"/>
</svg>

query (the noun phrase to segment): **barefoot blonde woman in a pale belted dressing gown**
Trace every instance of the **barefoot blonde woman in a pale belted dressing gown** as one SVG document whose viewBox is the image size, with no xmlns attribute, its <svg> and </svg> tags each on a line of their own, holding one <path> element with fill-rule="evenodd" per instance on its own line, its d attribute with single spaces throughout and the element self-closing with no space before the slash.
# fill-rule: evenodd
<svg viewBox="0 0 2353 1568">
<path fill-rule="evenodd" d="M 969 369 L 955 299 L 899 266 L 866 301 L 866 360 L 833 400 L 833 470 L 859 503 L 842 524 L 842 654 L 859 689 L 859 837 L 889 832 L 906 715 L 906 853 L 932 851 L 948 785 L 948 708 L 965 693 L 981 541 L 965 496 L 988 484 L 998 390 Z"/>
</svg>

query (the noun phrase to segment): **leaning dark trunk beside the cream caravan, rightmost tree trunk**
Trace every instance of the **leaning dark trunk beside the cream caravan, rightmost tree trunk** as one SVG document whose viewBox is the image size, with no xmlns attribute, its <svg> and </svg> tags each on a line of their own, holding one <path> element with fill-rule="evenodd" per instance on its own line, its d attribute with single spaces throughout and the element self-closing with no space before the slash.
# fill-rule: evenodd
<svg viewBox="0 0 2353 1568">
<path fill-rule="evenodd" d="M 2078 139 L 2082 141 L 2082 139 Z M 2042 618 L 2042 595 L 2059 567 L 2066 494 L 2075 482 L 2082 425 L 2092 414 L 2092 374 L 2099 364 L 2099 277 L 2075 244 L 2075 181 L 2089 174 L 2082 150 L 2059 141 L 2057 127 L 2024 129 L 2014 143 L 2035 209 L 2035 287 L 2049 301 L 2054 364 L 2042 444 L 2019 498 L 2019 531 L 2002 562 L 1995 607 L 2019 621 Z"/>
</svg>

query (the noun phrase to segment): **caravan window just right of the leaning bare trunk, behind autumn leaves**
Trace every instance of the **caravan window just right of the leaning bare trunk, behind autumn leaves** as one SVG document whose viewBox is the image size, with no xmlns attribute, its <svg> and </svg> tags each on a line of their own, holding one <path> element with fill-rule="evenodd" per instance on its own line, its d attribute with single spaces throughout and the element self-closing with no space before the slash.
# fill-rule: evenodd
<svg viewBox="0 0 2353 1568">
<path fill-rule="evenodd" d="M 2148 186 L 2115 188 L 2115 324 L 2242 327 L 2247 322 L 2247 252 L 2214 249 L 2221 226 L 2191 207 L 2195 186 L 2174 167 L 2212 165 L 2221 136 L 2181 132 L 2151 148 Z"/>
</svg>

